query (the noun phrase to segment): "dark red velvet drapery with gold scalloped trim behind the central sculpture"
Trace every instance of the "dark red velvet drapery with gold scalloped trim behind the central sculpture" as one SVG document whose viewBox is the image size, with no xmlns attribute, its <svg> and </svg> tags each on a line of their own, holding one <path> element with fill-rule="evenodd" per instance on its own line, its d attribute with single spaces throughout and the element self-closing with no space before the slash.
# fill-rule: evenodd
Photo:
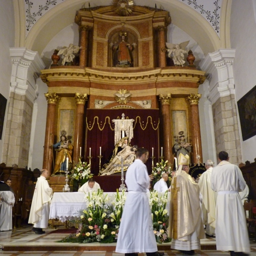
<svg viewBox="0 0 256 256">
<path fill-rule="evenodd" d="M 131 145 L 147 148 L 149 157 L 154 148 L 154 163 L 159 157 L 159 110 L 158 109 L 87 109 L 86 116 L 86 140 L 85 157 L 88 161 L 89 148 L 91 148 L 91 172 L 99 173 L 99 147 L 101 147 L 102 164 L 108 159 L 114 148 L 114 123 L 113 119 L 121 119 L 122 113 L 125 119 L 134 119 L 134 138 Z M 147 162 L 149 173 L 151 172 L 152 160 Z"/>
</svg>

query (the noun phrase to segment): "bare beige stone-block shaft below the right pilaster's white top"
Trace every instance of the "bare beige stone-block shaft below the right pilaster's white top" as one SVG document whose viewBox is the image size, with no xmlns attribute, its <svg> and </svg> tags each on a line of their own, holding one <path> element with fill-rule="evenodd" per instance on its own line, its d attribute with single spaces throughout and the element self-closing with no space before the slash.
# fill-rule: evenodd
<svg viewBox="0 0 256 256">
<path fill-rule="evenodd" d="M 212 105 L 212 112 L 217 154 L 227 151 L 230 163 L 238 165 L 242 156 L 235 95 L 218 98 Z"/>
</svg>

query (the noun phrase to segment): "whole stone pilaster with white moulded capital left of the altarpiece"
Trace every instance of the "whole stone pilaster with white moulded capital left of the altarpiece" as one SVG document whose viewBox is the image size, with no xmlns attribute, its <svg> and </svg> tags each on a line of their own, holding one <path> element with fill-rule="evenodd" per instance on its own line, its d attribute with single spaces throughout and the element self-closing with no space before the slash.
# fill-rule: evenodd
<svg viewBox="0 0 256 256">
<path fill-rule="evenodd" d="M 36 79 L 44 63 L 38 52 L 26 48 L 10 48 L 12 82 L 8 105 L 3 162 L 7 166 L 28 165 L 29 142 L 34 101 L 37 98 Z"/>
</svg>

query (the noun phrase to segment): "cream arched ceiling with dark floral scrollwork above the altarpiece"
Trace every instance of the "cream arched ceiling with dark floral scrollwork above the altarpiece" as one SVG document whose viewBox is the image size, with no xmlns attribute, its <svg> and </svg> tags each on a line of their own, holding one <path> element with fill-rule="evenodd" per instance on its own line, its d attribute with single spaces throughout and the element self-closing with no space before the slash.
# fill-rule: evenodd
<svg viewBox="0 0 256 256">
<path fill-rule="evenodd" d="M 88 7 L 89 2 L 94 7 L 108 6 L 112 1 L 14 0 L 15 46 L 27 47 L 41 54 L 49 41 L 73 23 L 76 12 Z M 150 7 L 157 4 L 157 8 L 168 11 L 172 23 L 198 42 L 205 55 L 229 48 L 231 0 L 134 0 L 134 4 Z"/>
</svg>

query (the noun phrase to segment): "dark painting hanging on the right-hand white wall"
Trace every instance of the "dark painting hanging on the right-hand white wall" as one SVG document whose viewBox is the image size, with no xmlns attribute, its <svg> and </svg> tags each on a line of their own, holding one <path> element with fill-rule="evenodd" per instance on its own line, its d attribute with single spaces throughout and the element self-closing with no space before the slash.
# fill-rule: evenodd
<svg viewBox="0 0 256 256">
<path fill-rule="evenodd" d="M 256 135 L 256 86 L 237 102 L 243 141 Z"/>
</svg>

